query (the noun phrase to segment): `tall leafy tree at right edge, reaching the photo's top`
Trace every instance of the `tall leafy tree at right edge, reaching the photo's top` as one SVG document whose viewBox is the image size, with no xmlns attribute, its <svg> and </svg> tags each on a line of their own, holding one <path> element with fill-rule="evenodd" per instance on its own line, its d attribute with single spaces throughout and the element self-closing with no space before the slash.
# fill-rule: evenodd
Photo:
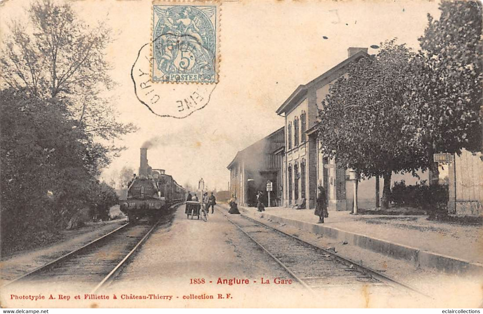
<svg viewBox="0 0 483 314">
<path fill-rule="evenodd" d="M 434 171 L 435 152 L 482 150 L 482 4 L 441 1 L 440 11 L 439 20 L 428 14 L 404 106 L 405 129 Z"/>
</svg>

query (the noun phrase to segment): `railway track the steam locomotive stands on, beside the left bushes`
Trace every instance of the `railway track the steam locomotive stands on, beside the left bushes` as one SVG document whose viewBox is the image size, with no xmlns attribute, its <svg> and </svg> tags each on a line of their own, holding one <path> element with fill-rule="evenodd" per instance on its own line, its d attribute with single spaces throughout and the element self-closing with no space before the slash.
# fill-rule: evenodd
<svg viewBox="0 0 483 314">
<path fill-rule="evenodd" d="M 157 227 L 169 224 L 171 219 L 171 215 L 166 215 L 155 223 L 149 219 L 140 219 L 137 224 L 126 223 L 85 246 L 12 280 L 3 288 L 25 283 L 29 286 L 47 287 L 65 284 L 95 293 L 114 279 Z"/>
</svg>

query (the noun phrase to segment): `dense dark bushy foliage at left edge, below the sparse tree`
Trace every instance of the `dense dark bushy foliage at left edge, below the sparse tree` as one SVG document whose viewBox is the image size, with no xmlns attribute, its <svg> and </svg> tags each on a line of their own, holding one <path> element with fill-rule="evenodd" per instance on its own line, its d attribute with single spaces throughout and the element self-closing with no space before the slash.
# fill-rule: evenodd
<svg viewBox="0 0 483 314">
<path fill-rule="evenodd" d="M 2 251 L 39 243 L 89 204 L 107 151 L 66 109 L 26 90 L 0 92 Z"/>
</svg>

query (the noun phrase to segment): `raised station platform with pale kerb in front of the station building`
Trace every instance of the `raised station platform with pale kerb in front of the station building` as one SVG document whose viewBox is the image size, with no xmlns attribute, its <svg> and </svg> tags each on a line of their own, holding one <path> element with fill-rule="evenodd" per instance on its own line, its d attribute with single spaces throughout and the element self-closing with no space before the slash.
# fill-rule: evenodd
<svg viewBox="0 0 483 314">
<path fill-rule="evenodd" d="M 228 205 L 224 205 L 225 208 Z M 325 223 L 317 223 L 313 209 L 238 206 L 242 215 L 295 227 L 334 243 L 368 249 L 417 268 L 444 273 L 483 273 L 483 233 L 479 225 L 427 220 L 418 215 L 352 215 L 329 211 Z"/>
</svg>

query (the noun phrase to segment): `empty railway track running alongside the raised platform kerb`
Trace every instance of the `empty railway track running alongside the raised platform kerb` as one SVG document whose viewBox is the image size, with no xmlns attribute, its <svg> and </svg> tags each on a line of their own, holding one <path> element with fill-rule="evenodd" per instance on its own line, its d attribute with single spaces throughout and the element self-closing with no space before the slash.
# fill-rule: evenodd
<svg viewBox="0 0 483 314">
<path fill-rule="evenodd" d="M 314 246 L 255 219 L 220 211 L 300 285 L 314 294 L 337 287 L 357 289 L 370 286 L 373 290 L 397 287 L 404 292 L 428 297 L 414 287 L 345 259 L 332 250 Z"/>
</svg>

